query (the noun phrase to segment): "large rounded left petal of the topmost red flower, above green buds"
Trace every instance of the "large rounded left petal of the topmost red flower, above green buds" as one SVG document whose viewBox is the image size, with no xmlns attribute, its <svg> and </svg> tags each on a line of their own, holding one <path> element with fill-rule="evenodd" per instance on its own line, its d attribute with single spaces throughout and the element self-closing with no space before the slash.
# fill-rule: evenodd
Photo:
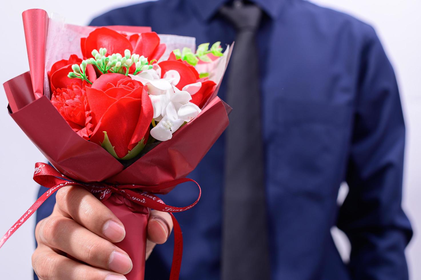
<svg viewBox="0 0 421 280">
<path fill-rule="evenodd" d="M 124 35 L 107 27 L 100 27 L 89 33 L 85 40 L 85 57 L 90 58 L 94 49 L 107 48 L 107 54 L 120 53 L 124 55 L 124 50 L 133 51 L 130 41 Z"/>
</svg>

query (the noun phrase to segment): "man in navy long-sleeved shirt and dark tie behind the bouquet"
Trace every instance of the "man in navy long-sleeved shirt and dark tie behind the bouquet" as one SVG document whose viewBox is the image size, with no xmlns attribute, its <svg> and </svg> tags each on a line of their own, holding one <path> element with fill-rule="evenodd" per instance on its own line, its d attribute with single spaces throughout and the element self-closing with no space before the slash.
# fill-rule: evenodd
<svg viewBox="0 0 421 280">
<path fill-rule="evenodd" d="M 408 279 L 404 249 L 412 231 L 401 208 L 405 126 L 393 69 L 370 26 L 303 0 L 160 0 L 110 11 L 91 24 L 152 26 L 157 33 L 196 37 L 197 43 L 236 40 L 219 96 L 234 103 L 232 114 L 241 114 L 230 116 L 227 133 L 189 176 L 200 182 L 203 195 L 194 209 L 176 214 L 186 240 L 181 279 Z M 234 58 L 236 53 L 242 57 Z M 257 88 L 254 96 L 250 88 Z M 243 106 L 250 99 L 260 115 Z M 260 121 L 238 129 L 244 127 L 241 117 L 248 124 L 248 112 Z M 250 158 L 237 169 L 232 163 L 239 163 L 237 154 L 250 139 L 261 143 L 249 150 L 256 172 L 243 174 L 247 180 L 237 176 L 244 186 L 233 187 L 232 175 L 249 168 Z M 252 201 L 248 181 L 260 179 Z M 338 207 L 343 181 L 349 193 Z M 163 199 L 186 205 L 187 192 L 179 189 Z M 66 206 L 59 202 L 56 208 Z M 40 212 L 38 219 L 48 214 Z M 59 215 L 73 217 L 69 211 Z M 159 221 L 167 219 L 159 215 Z M 44 224 L 51 224 L 48 219 Z M 87 223 L 80 222 L 93 227 Z M 168 233 L 171 224 L 163 224 Z M 348 264 L 330 235 L 335 225 L 351 242 Z M 172 248 L 170 238 L 154 249 L 146 279 L 168 279 Z M 37 252 L 35 259 L 45 255 Z M 127 268 L 107 267 L 109 259 L 98 265 L 95 258 L 83 261 L 122 274 Z M 77 279 L 71 266 L 63 267 L 66 279 Z M 41 270 L 35 266 L 43 279 L 57 275 Z"/>
</svg>

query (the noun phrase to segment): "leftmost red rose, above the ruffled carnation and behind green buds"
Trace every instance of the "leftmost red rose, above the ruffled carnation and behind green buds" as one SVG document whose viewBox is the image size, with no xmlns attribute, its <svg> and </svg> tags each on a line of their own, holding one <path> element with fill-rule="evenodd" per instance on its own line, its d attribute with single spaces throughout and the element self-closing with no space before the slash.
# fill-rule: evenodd
<svg viewBox="0 0 421 280">
<path fill-rule="evenodd" d="M 82 87 L 83 83 L 80 79 L 70 79 L 67 77 L 69 72 L 73 72 L 72 65 L 80 64 L 82 59 L 78 58 L 75 54 L 72 54 L 69 59 L 62 59 L 57 61 L 51 67 L 51 70 L 47 73 L 50 79 L 51 93 L 54 93 L 58 88 L 67 88 L 68 85 L 76 84 Z M 93 66 L 88 64 L 86 68 L 88 79 L 93 82 L 96 80 L 96 73 Z"/>
</svg>

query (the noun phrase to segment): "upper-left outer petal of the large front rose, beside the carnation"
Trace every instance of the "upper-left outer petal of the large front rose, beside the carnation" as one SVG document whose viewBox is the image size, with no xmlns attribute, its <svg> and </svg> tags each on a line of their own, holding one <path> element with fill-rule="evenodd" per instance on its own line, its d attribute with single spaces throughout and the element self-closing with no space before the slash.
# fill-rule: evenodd
<svg viewBox="0 0 421 280">
<path fill-rule="evenodd" d="M 96 88 L 86 88 L 86 96 L 88 97 L 88 103 L 91 109 L 93 125 L 97 125 L 108 107 L 117 101 L 117 99 L 108 96 L 104 91 Z"/>
</svg>

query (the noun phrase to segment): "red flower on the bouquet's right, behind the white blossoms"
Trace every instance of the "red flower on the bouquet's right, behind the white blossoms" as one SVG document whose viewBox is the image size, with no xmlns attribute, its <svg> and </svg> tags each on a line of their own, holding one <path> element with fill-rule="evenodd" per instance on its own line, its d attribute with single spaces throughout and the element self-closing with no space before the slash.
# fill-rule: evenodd
<svg viewBox="0 0 421 280">
<path fill-rule="evenodd" d="M 185 61 L 175 60 L 175 55 L 171 56 L 171 60 L 162 61 L 159 63 L 161 67 L 161 77 L 164 77 L 165 73 L 169 70 L 176 70 L 180 74 L 180 81 L 176 85 L 179 90 L 182 90 L 184 86 L 201 82 L 202 87 L 197 93 L 192 95 L 191 102 L 196 104 L 199 108 L 203 109 L 206 101 L 208 101 L 209 97 L 216 89 L 216 83 L 209 80 L 208 78 L 199 78 L 199 73 L 195 67 L 190 64 L 187 64 Z"/>
</svg>

